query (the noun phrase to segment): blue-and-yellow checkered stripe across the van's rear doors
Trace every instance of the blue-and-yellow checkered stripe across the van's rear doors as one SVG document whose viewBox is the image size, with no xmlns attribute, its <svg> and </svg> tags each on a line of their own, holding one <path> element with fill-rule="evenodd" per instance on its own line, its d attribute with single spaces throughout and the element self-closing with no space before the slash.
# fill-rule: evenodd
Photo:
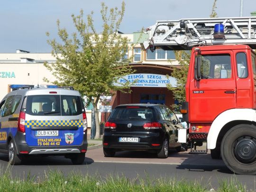
<svg viewBox="0 0 256 192">
<path fill-rule="evenodd" d="M 77 126 L 77 127 L 82 127 L 83 122 L 82 120 L 42 120 L 42 121 L 37 121 L 37 120 L 32 120 L 32 121 L 25 121 L 25 126 L 27 128 L 31 127 L 40 127 L 40 126 Z"/>
</svg>

